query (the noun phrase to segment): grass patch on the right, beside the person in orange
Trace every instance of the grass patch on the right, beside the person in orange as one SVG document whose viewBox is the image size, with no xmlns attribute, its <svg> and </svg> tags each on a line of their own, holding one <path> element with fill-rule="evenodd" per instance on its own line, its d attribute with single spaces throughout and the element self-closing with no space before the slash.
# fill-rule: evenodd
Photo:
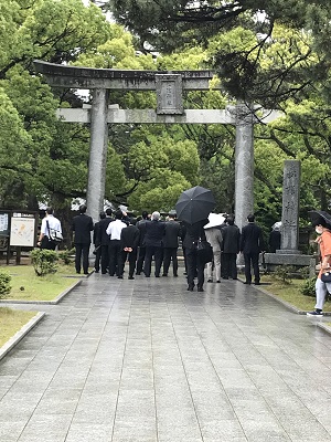
<svg viewBox="0 0 331 442">
<path fill-rule="evenodd" d="M 290 284 L 282 284 L 280 281 L 271 278 L 269 275 L 263 275 L 261 283 L 266 283 L 261 288 L 280 297 L 300 311 L 312 311 L 314 307 L 314 297 L 305 296 L 300 293 L 300 287 L 305 283 L 305 280 L 292 280 Z M 324 311 L 331 311 L 330 301 L 325 302 Z"/>
</svg>

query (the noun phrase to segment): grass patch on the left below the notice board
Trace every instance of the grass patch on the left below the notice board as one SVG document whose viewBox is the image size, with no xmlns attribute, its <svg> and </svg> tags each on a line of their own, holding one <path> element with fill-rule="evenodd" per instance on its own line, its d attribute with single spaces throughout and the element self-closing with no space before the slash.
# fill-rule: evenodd
<svg viewBox="0 0 331 442">
<path fill-rule="evenodd" d="M 32 265 L 1 266 L 11 275 L 11 292 L 7 299 L 52 301 L 73 285 L 77 278 L 64 277 L 75 274 L 72 265 L 58 265 L 55 274 L 36 276 Z"/>
</svg>

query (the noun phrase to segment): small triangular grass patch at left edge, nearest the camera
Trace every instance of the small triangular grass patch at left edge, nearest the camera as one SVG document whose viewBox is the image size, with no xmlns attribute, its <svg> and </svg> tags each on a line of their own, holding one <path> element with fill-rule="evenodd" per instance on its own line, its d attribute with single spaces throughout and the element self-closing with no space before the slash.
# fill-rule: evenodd
<svg viewBox="0 0 331 442">
<path fill-rule="evenodd" d="M 0 307 L 0 347 L 3 346 L 23 325 L 29 323 L 36 312 L 15 311 Z"/>
</svg>

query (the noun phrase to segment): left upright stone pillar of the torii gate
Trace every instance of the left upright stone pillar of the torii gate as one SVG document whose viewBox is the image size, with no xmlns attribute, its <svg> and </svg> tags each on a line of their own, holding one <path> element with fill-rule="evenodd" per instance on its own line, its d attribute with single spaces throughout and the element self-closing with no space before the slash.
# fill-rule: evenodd
<svg viewBox="0 0 331 442">
<path fill-rule="evenodd" d="M 106 161 L 108 148 L 108 91 L 93 91 L 90 108 L 90 141 L 88 160 L 88 187 L 86 204 L 88 214 L 94 222 L 98 221 L 99 212 L 104 209 Z"/>
</svg>

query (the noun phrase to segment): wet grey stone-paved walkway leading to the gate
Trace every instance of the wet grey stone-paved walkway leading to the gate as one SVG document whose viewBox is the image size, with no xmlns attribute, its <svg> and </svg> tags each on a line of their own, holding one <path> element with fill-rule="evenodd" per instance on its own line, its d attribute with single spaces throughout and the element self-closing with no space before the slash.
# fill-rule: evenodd
<svg viewBox="0 0 331 442">
<path fill-rule="evenodd" d="M 331 336 L 254 286 L 205 288 L 93 274 L 43 306 L 0 361 L 0 441 L 331 441 Z"/>
</svg>

